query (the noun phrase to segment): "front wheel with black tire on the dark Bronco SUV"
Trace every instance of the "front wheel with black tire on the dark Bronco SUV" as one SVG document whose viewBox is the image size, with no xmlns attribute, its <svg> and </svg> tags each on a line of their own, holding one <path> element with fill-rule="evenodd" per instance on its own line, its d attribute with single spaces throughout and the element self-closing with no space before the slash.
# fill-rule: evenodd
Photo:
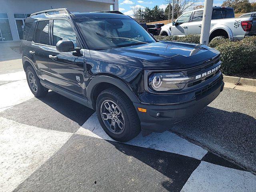
<svg viewBox="0 0 256 192">
<path fill-rule="evenodd" d="M 140 133 L 140 120 L 132 102 L 117 88 L 99 94 L 96 113 L 103 130 L 116 141 L 128 142 Z"/>
</svg>

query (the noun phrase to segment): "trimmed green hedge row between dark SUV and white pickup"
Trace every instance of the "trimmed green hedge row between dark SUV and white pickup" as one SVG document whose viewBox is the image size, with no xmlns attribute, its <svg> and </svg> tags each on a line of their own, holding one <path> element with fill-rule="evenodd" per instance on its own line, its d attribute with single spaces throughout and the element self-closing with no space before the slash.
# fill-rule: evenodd
<svg viewBox="0 0 256 192">
<path fill-rule="evenodd" d="M 157 40 L 196 43 L 200 35 L 155 36 Z M 232 42 L 228 39 L 213 39 L 210 47 L 221 53 L 222 72 L 229 76 L 256 78 L 256 36 Z"/>
</svg>

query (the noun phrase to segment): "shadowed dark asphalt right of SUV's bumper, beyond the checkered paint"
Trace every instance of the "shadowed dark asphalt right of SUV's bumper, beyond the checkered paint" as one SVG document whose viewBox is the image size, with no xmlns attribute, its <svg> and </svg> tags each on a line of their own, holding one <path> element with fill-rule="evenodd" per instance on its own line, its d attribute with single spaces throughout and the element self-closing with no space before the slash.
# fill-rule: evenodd
<svg viewBox="0 0 256 192">
<path fill-rule="evenodd" d="M 256 119 L 205 107 L 171 131 L 256 172 Z"/>
</svg>

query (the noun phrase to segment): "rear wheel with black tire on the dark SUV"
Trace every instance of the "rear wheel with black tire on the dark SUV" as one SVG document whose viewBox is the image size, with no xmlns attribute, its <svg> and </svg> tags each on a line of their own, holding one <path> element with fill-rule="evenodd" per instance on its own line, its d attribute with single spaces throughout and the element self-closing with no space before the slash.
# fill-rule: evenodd
<svg viewBox="0 0 256 192">
<path fill-rule="evenodd" d="M 27 78 L 28 86 L 35 97 L 46 96 L 46 94 L 48 93 L 48 89 L 44 88 L 41 85 L 40 79 L 38 78 L 32 66 L 28 66 L 26 68 L 26 78 Z"/>
</svg>

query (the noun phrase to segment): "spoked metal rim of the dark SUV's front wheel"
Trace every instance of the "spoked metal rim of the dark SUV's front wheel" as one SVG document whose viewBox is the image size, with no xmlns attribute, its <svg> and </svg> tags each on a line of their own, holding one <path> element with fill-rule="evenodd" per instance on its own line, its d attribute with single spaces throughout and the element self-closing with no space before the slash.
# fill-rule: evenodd
<svg viewBox="0 0 256 192">
<path fill-rule="evenodd" d="M 110 132 L 117 135 L 124 132 L 124 115 L 114 101 L 104 100 L 100 106 L 100 114 L 102 121 Z"/>
</svg>

